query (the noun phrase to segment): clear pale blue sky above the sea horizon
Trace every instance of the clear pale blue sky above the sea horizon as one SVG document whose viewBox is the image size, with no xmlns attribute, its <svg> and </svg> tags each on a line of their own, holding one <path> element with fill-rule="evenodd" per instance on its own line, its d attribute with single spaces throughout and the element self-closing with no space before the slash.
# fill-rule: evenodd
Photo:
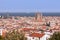
<svg viewBox="0 0 60 40">
<path fill-rule="evenodd" d="M 0 0 L 0 12 L 60 12 L 60 0 Z"/>
</svg>

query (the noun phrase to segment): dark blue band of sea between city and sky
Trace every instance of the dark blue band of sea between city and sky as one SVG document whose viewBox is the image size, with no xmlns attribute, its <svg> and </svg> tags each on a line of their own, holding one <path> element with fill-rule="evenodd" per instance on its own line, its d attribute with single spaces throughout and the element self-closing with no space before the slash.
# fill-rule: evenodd
<svg viewBox="0 0 60 40">
<path fill-rule="evenodd" d="M 0 16 L 35 16 L 36 13 L 34 12 L 31 12 L 31 13 L 21 13 L 21 12 L 15 12 L 15 13 L 0 13 Z M 60 16 L 60 13 L 59 12 L 55 12 L 55 13 L 52 13 L 52 12 L 49 12 L 49 13 L 42 13 L 43 16 Z"/>
</svg>

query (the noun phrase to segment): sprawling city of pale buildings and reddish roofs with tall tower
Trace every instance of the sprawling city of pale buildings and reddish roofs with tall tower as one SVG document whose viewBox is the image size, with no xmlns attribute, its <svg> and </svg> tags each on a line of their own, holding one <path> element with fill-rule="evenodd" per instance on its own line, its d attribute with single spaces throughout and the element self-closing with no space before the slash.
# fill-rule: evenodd
<svg viewBox="0 0 60 40">
<path fill-rule="evenodd" d="M 18 30 L 27 40 L 47 40 L 54 32 L 60 32 L 60 16 L 0 16 L 0 35 Z"/>
</svg>

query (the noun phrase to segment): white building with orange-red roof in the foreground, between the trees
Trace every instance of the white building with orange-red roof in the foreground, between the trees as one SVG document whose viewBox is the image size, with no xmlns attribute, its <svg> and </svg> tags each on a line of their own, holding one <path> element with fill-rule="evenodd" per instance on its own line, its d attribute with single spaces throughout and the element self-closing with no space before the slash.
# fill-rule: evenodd
<svg viewBox="0 0 60 40">
<path fill-rule="evenodd" d="M 50 38 L 50 35 L 48 34 L 32 33 L 26 37 L 27 37 L 27 40 L 47 40 L 48 38 Z"/>
</svg>

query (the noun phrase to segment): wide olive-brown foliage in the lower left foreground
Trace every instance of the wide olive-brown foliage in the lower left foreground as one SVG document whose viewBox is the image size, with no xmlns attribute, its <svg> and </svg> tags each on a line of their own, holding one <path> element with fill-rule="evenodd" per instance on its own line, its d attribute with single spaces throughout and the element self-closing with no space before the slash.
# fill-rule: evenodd
<svg viewBox="0 0 60 40">
<path fill-rule="evenodd" d="M 24 37 L 24 33 L 19 33 L 17 31 L 9 32 L 6 34 L 4 38 L 0 38 L 2 40 L 26 40 Z"/>
</svg>

